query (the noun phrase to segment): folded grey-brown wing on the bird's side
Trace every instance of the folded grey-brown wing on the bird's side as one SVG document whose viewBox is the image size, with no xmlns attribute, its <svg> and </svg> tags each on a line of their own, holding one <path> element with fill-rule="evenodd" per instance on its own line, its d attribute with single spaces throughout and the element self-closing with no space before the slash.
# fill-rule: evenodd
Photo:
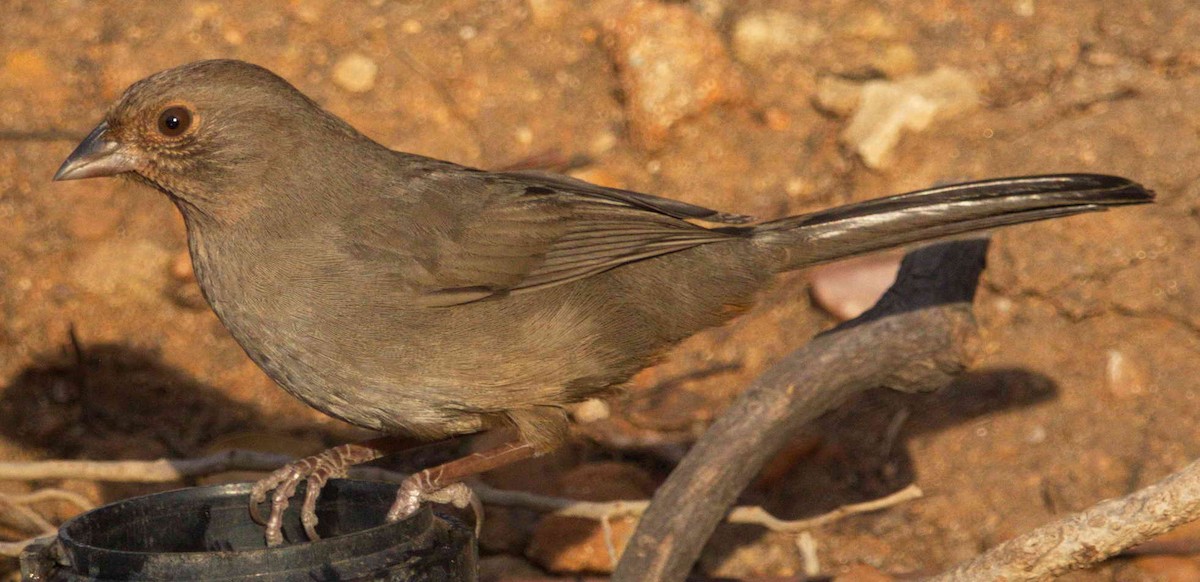
<svg viewBox="0 0 1200 582">
<path fill-rule="evenodd" d="M 379 215 L 371 223 L 382 226 L 347 238 L 355 254 L 391 270 L 425 306 L 527 293 L 727 241 L 738 229 L 688 220 L 746 220 L 534 173 L 431 173 L 360 212 Z"/>
</svg>

